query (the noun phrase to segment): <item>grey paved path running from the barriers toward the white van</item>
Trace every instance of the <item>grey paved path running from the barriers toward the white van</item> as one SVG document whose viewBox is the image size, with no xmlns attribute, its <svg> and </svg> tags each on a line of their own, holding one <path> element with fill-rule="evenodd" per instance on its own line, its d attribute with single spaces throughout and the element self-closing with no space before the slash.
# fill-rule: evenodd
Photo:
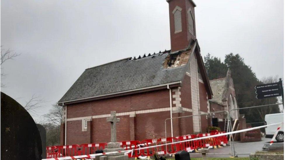
<svg viewBox="0 0 285 160">
<path fill-rule="evenodd" d="M 264 143 L 269 142 L 270 138 L 262 138 L 259 142 L 234 142 L 234 149 L 236 153 L 255 153 L 256 151 L 262 151 Z M 228 143 L 230 144 L 230 143 Z M 230 157 L 231 147 L 225 146 L 218 149 L 209 149 L 209 153 L 224 153 L 224 154 L 212 154 L 207 157 Z M 190 157 L 202 157 L 201 154 L 190 154 Z M 249 154 L 238 154 L 238 157 L 249 157 Z"/>
</svg>

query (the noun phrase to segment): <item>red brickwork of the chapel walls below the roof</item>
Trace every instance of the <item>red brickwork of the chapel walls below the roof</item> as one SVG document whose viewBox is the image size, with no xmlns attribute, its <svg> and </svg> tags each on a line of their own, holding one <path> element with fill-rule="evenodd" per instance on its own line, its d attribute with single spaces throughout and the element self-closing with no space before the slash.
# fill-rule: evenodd
<svg viewBox="0 0 285 160">
<path fill-rule="evenodd" d="M 206 91 L 204 94 L 206 94 Z M 202 96 L 200 99 L 203 98 L 204 97 Z M 191 103 L 190 77 L 185 75 L 181 87 L 181 104 L 182 107 L 192 108 Z M 153 92 L 72 104 L 67 106 L 67 118 L 110 114 L 111 110 L 116 110 L 117 113 L 121 113 L 167 108 L 169 106 L 169 90 L 161 89 Z M 186 111 L 183 113 L 173 113 L 173 117 L 186 115 L 192 115 L 192 113 Z M 170 118 L 170 111 L 136 114 L 135 117 L 129 117 L 129 115 L 118 117 L 120 118 L 120 122 L 117 124 L 118 141 L 133 139 L 143 140 L 165 136 L 164 120 Z M 201 122 L 204 122 L 203 118 L 201 119 Z M 202 123 L 202 128 L 204 130 L 203 125 L 204 123 Z M 192 117 L 173 120 L 173 136 L 192 133 Z M 167 136 L 171 136 L 170 120 L 167 121 Z M 67 122 L 67 145 L 109 141 L 110 123 L 106 122 L 106 117 L 93 118 L 91 122 L 88 121 L 87 131 L 82 131 L 82 120 Z"/>
</svg>

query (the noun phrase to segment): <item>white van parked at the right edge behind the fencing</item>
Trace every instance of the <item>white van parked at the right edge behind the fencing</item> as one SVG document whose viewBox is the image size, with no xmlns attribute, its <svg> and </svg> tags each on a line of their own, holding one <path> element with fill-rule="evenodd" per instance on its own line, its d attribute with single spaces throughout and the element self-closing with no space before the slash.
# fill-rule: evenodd
<svg viewBox="0 0 285 160">
<path fill-rule="evenodd" d="M 265 115 L 266 124 L 274 124 L 284 122 L 284 113 L 275 113 Z M 266 138 L 272 138 L 279 125 L 268 126 L 265 128 Z M 281 125 L 279 132 L 275 138 L 277 142 L 284 142 L 284 124 Z"/>
</svg>

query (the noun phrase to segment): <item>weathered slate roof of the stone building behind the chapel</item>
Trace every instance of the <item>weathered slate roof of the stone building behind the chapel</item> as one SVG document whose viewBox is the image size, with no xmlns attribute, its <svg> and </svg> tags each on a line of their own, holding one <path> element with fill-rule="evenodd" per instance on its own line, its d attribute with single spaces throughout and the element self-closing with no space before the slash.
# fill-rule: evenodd
<svg viewBox="0 0 285 160">
<path fill-rule="evenodd" d="M 211 101 L 222 105 L 223 93 L 225 92 L 226 88 L 226 77 L 210 80 L 210 85 L 213 92 L 213 97 Z"/>
</svg>

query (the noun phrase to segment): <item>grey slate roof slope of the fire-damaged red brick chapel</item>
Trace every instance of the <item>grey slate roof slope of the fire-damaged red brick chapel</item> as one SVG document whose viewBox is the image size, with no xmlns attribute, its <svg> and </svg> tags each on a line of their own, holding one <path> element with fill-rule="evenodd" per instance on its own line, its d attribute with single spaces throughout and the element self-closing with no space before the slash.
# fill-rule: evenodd
<svg viewBox="0 0 285 160">
<path fill-rule="evenodd" d="M 59 102 L 181 81 L 186 66 L 164 68 L 170 51 L 140 59 L 122 59 L 86 69 Z"/>
</svg>

